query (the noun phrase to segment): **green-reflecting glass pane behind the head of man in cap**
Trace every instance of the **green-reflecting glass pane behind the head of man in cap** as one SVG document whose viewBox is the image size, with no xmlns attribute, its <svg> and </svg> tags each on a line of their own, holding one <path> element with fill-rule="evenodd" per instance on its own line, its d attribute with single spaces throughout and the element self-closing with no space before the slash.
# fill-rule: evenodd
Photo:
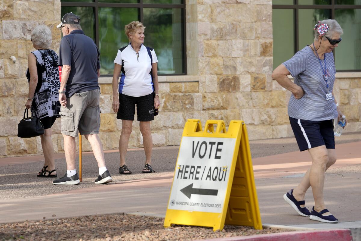
<svg viewBox="0 0 361 241">
<path fill-rule="evenodd" d="M 61 7 L 61 17 L 65 13 L 74 13 L 80 18 L 80 25 L 85 35 L 92 38 L 95 42 L 95 17 L 93 7 Z"/>
</svg>

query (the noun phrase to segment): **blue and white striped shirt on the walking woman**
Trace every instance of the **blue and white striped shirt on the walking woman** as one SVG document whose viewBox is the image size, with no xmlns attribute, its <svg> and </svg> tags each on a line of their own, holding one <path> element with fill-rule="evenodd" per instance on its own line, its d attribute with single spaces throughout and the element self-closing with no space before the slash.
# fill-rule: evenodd
<svg viewBox="0 0 361 241">
<path fill-rule="evenodd" d="M 329 92 L 332 93 L 336 73 L 334 55 L 332 52 L 325 53 L 325 58 Z M 295 78 L 294 83 L 305 92 L 301 99 L 291 95 L 288 102 L 288 116 L 312 121 L 331 120 L 338 116 L 334 97 L 326 100 L 328 91 L 322 70 L 325 69 L 324 60 L 321 60 L 321 63 L 322 67 L 319 59 L 308 46 L 283 63 Z"/>
</svg>

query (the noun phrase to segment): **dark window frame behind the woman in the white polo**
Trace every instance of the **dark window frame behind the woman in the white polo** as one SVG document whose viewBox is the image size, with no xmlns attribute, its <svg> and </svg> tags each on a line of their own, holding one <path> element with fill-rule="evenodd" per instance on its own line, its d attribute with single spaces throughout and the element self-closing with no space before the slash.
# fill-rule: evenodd
<svg viewBox="0 0 361 241">
<path fill-rule="evenodd" d="M 158 76 L 183 76 L 187 75 L 187 55 L 186 55 L 186 47 L 187 47 L 187 38 L 186 38 L 186 3 L 183 0 L 182 4 L 148 4 L 143 3 L 143 0 L 138 0 L 138 3 L 99 3 L 98 0 L 94 0 L 91 3 L 84 3 L 84 2 L 77 2 L 74 0 L 73 2 L 63 2 L 61 1 L 61 7 L 92 7 L 94 8 L 94 33 L 95 33 L 95 44 L 99 48 L 99 14 L 98 8 L 107 7 L 107 8 L 138 8 L 140 22 L 143 22 L 143 8 L 180 8 L 183 9 L 183 43 L 182 43 L 182 57 L 183 57 L 183 66 L 184 66 L 184 73 L 179 74 L 158 74 Z M 111 74 L 102 74 L 100 77 L 112 77 Z"/>
</svg>

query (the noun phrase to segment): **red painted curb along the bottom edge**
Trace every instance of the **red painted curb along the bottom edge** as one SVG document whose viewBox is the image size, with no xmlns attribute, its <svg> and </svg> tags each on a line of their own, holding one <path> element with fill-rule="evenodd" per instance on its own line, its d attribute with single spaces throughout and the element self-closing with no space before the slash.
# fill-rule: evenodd
<svg viewBox="0 0 361 241">
<path fill-rule="evenodd" d="M 202 241 L 352 241 L 349 229 L 319 229 L 312 231 L 296 231 L 229 238 L 212 238 Z"/>
</svg>

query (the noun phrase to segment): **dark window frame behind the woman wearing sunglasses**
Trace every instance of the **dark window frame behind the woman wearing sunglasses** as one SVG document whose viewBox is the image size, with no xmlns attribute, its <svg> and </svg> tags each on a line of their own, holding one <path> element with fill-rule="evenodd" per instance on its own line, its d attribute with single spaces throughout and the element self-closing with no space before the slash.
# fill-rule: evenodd
<svg viewBox="0 0 361 241">
<path fill-rule="evenodd" d="M 335 0 L 331 0 L 330 4 L 325 5 L 302 5 L 299 4 L 299 0 L 293 0 L 293 5 L 287 4 L 272 4 L 272 9 L 293 9 L 293 16 L 295 25 L 293 26 L 295 43 L 294 43 L 294 53 L 297 52 L 299 48 L 299 9 L 330 9 L 331 10 L 331 19 L 335 19 L 335 9 L 361 9 L 361 5 L 348 5 L 348 4 L 335 4 Z M 334 53 L 334 58 L 336 58 L 335 50 L 332 51 Z M 361 69 L 358 70 L 337 70 L 337 72 L 361 72 Z"/>
</svg>

